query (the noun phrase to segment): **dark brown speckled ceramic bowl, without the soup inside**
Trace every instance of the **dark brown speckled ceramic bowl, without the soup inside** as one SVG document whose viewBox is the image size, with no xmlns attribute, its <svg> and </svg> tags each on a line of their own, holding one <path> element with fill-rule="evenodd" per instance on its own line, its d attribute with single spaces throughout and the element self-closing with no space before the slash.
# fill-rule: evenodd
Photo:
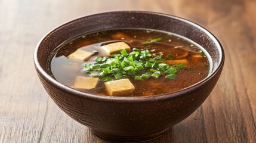
<svg viewBox="0 0 256 143">
<path fill-rule="evenodd" d="M 192 39 L 211 55 L 212 72 L 188 88 L 149 97 L 87 94 L 57 82 L 48 73 L 49 55 L 67 39 L 122 28 L 158 29 Z M 192 114 L 217 83 L 223 69 L 224 51 L 208 30 L 183 18 L 152 12 L 116 11 L 78 18 L 52 30 L 36 47 L 34 61 L 42 85 L 61 110 L 102 138 L 132 142 L 156 138 Z"/>
</svg>

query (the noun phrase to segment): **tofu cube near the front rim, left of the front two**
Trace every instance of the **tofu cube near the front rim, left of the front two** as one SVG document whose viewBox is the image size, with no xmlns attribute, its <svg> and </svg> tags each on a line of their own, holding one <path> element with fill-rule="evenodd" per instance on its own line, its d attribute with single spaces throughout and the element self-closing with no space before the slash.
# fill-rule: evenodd
<svg viewBox="0 0 256 143">
<path fill-rule="evenodd" d="M 85 76 L 76 76 L 76 80 L 73 88 L 75 89 L 92 89 L 98 83 L 98 77 L 85 77 Z"/>
</svg>

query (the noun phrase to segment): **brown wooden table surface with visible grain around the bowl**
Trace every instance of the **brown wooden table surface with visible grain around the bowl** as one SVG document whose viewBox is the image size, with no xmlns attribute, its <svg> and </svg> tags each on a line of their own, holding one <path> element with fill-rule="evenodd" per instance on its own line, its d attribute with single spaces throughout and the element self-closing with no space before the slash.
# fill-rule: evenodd
<svg viewBox="0 0 256 143">
<path fill-rule="evenodd" d="M 116 10 L 187 18 L 217 36 L 225 50 L 223 73 L 203 105 L 150 142 L 255 142 L 255 7 L 255 0 L 0 0 L 0 142 L 109 142 L 55 105 L 36 75 L 33 52 L 54 27 Z"/>
</svg>

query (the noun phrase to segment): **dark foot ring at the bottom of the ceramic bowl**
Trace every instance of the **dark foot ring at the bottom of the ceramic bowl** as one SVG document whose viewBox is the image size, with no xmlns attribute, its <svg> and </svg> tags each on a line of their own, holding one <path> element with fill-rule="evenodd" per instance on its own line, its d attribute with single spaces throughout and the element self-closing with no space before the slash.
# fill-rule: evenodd
<svg viewBox="0 0 256 143">
<path fill-rule="evenodd" d="M 97 135 L 100 138 L 109 140 L 109 141 L 115 141 L 115 142 L 145 142 L 150 141 L 156 138 L 159 138 L 167 132 L 169 129 L 162 130 L 161 132 L 152 133 L 149 135 L 141 135 L 141 136 L 121 136 L 121 135 L 112 135 L 109 133 L 100 132 L 95 129 L 90 129 L 92 133 Z"/>
</svg>

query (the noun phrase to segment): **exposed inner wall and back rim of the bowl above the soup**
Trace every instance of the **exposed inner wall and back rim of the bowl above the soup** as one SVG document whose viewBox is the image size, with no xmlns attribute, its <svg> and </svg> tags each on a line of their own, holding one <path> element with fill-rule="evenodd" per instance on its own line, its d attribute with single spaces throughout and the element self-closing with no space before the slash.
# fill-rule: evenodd
<svg viewBox="0 0 256 143">
<path fill-rule="evenodd" d="M 163 30 L 176 33 L 198 43 L 208 51 L 212 58 L 212 72 L 206 79 L 216 73 L 217 70 L 220 70 L 221 64 L 223 64 L 224 52 L 220 43 L 211 33 L 203 29 L 203 27 L 172 15 L 142 11 L 116 11 L 94 14 L 63 24 L 48 33 L 39 42 L 35 52 L 35 61 L 47 73 L 48 57 L 61 43 L 86 33 L 122 28 Z"/>
</svg>

